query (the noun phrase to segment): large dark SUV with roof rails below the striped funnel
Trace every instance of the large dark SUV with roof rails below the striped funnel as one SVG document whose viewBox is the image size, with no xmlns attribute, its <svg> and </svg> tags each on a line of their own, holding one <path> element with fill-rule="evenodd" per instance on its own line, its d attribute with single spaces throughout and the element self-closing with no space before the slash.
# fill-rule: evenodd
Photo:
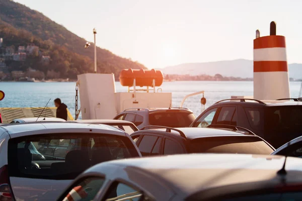
<svg viewBox="0 0 302 201">
<path fill-rule="evenodd" d="M 278 148 L 302 133 L 302 102 L 298 98 L 220 100 L 207 108 L 190 127 L 224 124 L 247 128 Z"/>
</svg>

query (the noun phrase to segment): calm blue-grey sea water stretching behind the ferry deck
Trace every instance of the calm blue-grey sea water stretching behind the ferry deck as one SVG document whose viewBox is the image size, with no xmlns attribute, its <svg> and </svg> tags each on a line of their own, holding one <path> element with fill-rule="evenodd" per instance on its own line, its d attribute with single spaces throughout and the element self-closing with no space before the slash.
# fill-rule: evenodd
<svg viewBox="0 0 302 201">
<path fill-rule="evenodd" d="M 292 97 L 299 95 L 300 86 L 301 82 L 290 82 Z M 253 95 L 252 81 L 175 81 L 164 82 L 161 88 L 163 92 L 172 92 L 173 107 L 179 107 L 185 95 L 201 90 L 205 91 L 206 107 L 231 95 Z M 0 108 L 44 107 L 49 98 L 48 107 L 54 107 L 53 100 L 59 97 L 74 117 L 75 82 L 0 82 L 0 90 L 6 94 L 0 101 Z M 116 91 L 126 92 L 127 87 L 116 82 Z M 201 113 L 201 97 L 202 94 L 188 98 L 183 107 L 198 116 Z"/>
</svg>

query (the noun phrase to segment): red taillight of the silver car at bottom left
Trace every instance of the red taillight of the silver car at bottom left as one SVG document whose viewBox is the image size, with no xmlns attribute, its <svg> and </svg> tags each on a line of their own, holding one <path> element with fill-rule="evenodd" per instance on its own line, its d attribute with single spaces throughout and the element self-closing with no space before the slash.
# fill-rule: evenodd
<svg viewBox="0 0 302 201">
<path fill-rule="evenodd" d="M 13 200 L 9 180 L 8 166 L 5 165 L 0 168 L 0 201 Z"/>
</svg>

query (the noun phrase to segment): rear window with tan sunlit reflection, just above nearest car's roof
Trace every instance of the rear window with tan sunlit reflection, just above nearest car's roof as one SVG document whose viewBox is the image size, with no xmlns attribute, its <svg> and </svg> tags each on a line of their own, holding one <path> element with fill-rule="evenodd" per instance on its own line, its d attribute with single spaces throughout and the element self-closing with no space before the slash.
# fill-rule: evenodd
<svg viewBox="0 0 302 201">
<path fill-rule="evenodd" d="M 189 147 L 191 153 L 271 154 L 274 151 L 253 136 L 198 138 L 192 140 Z"/>
</svg>

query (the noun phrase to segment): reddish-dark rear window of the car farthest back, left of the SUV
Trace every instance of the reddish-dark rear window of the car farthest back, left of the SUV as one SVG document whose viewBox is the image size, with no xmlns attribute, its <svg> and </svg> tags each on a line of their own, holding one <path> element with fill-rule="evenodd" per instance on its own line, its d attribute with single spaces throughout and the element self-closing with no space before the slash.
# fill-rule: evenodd
<svg viewBox="0 0 302 201">
<path fill-rule="evenodd" d="M 193 113 L 179 110 L 167 110 L 149 114 L 149 123 L 153 126 L 189 127 L 195 119 Z"/>
</svg>

